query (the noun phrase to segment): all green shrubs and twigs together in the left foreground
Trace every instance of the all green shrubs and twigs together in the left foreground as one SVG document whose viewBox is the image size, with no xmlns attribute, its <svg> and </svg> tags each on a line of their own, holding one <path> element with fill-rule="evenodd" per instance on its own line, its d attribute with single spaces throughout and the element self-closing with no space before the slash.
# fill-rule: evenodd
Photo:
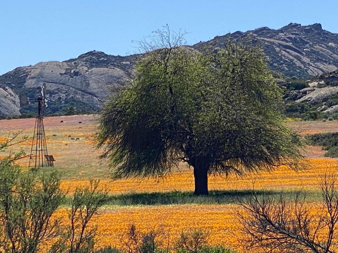
<svg viewBox="0 0 338 253">
<path fill-rule="evenodd" d="M 16 133 L 0 143 L 0 151 L 26 141 Z M 106 198 L 97 189 L 98 181 L 90 187 L 76 189 L 70 212 L 71 226 L 61 219 L 52 219 L 65 203 L 65 193 L 59 188 L 61 176 L 38 170 L 22 172 L 16 161 L 21 151 L 0 159 L 0 252 L 35 253 L 51 245 L 50 253 L 92 252 L 96 228 L 88 224 Z M 45 251 L 44 251 L 45 252 Z"/>
</svg>

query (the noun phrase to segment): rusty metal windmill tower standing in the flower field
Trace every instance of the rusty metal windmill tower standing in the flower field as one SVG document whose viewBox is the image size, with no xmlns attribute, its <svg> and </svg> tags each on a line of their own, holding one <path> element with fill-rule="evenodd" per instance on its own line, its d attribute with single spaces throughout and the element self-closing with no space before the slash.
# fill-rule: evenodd
<svg viewBox="0 0 338 253">
<path fill-rule="evenodd" d="M 28 167 L 38 168 L 53 166 L 55 160 L 53 156 L 48 155 L 45 128 L 43 125 L 43 112 L 47 107 L 45 83 L 41 87 L 41 95 L 36 98 L 28 98 L 25 94 L 20 95 L 21 107 L 28 105 L 28 102 L 38 103 L 38 112 L 37 116 L 35 117 L 34 134 L 30 150 Z"/>
</svg>

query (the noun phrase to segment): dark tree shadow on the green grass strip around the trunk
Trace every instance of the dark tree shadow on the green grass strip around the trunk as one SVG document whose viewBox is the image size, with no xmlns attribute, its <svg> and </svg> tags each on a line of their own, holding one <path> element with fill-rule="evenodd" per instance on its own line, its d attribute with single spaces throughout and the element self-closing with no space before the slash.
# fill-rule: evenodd
<svg viewBox="0 0 338 253">
<path fill-rule="evenodd" d="M 252 196 L 252 190 L 213 190 L 209 196 L 194 196 L 192 191 L 170 191 L 152 193 L 126 193 L 108 197 L 105 204 L 117 206 L 133 205 L 182 205 L 182 204 L 232 204 L 236 200 Z M 279 194 L 276 191 L 255 191 L 262 194 Z"/>
</svg>

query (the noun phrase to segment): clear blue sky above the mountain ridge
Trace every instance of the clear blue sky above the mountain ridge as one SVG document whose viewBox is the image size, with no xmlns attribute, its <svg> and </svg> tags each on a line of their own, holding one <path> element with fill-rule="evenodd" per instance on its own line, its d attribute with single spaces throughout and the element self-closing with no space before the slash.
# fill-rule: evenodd
<svg viewBox="0 0 338 253">
<path fill-rule="evenodd" d="M 135 53 L 132 40 L 168 24 L 186 29 L 187 44 L 217 35 L 288 23 L 321 23 L 338 33 L 334 0 L 0 0 L 0 74 L 42 61 L 98 50 Z"/>
</svg>

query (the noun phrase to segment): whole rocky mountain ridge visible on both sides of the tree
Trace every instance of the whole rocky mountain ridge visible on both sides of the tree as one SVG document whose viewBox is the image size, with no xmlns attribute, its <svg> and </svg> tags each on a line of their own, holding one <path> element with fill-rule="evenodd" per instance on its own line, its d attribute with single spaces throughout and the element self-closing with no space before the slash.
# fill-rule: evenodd
<svg viewBox="0 0 338 253">
<path fill-rule="evenodd" d="M 228 40 L 236 42 L 247 37 L 252 43 L 261 44 L 270 68 L 287 77 L 309 78 L 338 68 L 338 34 L 323 30 L 320 24 L 290 23 L 277 30 L 262 27 L 237 31 L 191 47 L 222 48 Z M 35 97 L 43 83 L 49 98 L 47 113 L 65 113 L 69 107 L 96 111 L 112 89 L 132 82 L 134 64 L 140 57 L 90 51 L 64 62 L 40 62 L 16 68 L 0 76 L 0 115 L 34 112 L 34 105 L 20 109 L 19 94 Z"/>
</svg>

